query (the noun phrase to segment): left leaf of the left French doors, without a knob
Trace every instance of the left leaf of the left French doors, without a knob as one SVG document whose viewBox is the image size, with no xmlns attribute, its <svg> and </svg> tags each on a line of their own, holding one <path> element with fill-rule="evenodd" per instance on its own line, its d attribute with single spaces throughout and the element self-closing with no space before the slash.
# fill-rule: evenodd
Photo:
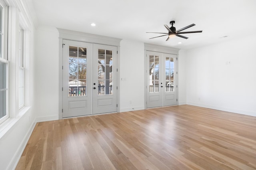
<svg viewBox="0 0 256 170">
<path fill-rule="evenodd" d="M 92 44 L 63 40 L 63 117 L 92 114 Z"/>
</svg>

